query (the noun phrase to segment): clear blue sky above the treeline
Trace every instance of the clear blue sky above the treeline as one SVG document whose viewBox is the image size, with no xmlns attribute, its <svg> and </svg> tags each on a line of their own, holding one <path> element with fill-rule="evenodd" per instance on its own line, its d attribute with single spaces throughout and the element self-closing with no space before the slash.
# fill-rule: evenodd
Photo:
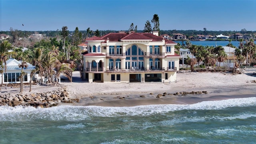
<svg viewBox="0 0 256 144">
<path fill-rule="evenodd" d="M 256 30 L 256 0 L 0 0 L 0 31 L 144 30 L 154 14 L 160 30 Z"/>
</svg>

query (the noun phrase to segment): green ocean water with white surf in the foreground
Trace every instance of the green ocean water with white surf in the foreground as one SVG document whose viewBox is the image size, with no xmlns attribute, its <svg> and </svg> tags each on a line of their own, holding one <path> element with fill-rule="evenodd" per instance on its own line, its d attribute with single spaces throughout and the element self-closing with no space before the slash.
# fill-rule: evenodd
<svg viewBox="0 0 256 144">
<path fill-rule="evenodd" d="M 0 144 L 254 144 L 256 98 L 134 107 L 0 106 Z"/>
</svg>

